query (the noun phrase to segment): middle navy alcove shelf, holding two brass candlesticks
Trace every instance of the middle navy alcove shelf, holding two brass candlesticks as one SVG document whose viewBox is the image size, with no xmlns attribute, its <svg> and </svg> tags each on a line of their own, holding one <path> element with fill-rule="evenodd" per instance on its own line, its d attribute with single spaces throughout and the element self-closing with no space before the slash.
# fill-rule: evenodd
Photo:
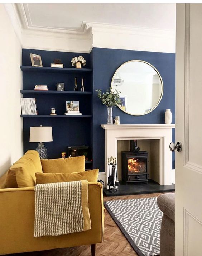
<svg viewBox="0 0 202 256">
<path fill-rule="evenodd" d="M 57 94 L 57 95 L 66 95 L 66 94 L 73 94 L 73 95 L 86 95 L 92 94 L 92 91 L 34 91 L 34 90 L 20 90 L 21 94 Z"/>
</svg>

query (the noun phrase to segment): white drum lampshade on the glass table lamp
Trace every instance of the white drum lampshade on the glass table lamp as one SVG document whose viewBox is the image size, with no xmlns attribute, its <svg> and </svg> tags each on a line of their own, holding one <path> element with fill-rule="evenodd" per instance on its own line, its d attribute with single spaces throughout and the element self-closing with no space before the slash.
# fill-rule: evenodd
<svg viewBox="0 0 202 256">
<path fill-rule="evenodd" d="M 53 141 L 52 126 L 30 127 L 29 142 Z"/>
</svg>

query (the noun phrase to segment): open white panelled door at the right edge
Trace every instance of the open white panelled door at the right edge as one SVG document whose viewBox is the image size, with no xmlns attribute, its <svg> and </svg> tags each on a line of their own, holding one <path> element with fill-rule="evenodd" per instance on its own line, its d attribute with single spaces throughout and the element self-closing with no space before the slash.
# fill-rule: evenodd
<svg viewBox="0 0 202 256">
<path fill-rule="evenodd" d="M 175 255 L 202 255 L 202 4 L 177 4 Z"/>
</svg>

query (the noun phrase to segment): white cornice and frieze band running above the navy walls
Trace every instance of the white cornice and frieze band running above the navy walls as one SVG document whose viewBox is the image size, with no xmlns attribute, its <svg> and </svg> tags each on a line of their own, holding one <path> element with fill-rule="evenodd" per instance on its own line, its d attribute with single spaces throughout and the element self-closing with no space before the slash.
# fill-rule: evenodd
<svg viewBox="0 0 202 256">
<path fill-rule="evenodd" d="M 32 24 L 28 4 L 5 4 L 23 48 L 89 53 L 93 47 L 175 53 L 175 31 L 83 21 L 80 29 Z"/>
</svg>

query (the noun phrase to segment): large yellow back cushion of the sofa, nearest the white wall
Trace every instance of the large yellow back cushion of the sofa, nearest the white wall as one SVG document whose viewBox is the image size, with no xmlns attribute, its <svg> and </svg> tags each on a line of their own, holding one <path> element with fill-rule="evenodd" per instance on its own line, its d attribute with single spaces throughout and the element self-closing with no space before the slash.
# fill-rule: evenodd
<svg viewBox="0 0 202 256">
<path fill-rule="evenodd" d="M 42 172 L 39 153 L 28 150 L 7 172 L 6 188 L 32 187 L 36 185 L 35 172 Z"/>
</svg>

